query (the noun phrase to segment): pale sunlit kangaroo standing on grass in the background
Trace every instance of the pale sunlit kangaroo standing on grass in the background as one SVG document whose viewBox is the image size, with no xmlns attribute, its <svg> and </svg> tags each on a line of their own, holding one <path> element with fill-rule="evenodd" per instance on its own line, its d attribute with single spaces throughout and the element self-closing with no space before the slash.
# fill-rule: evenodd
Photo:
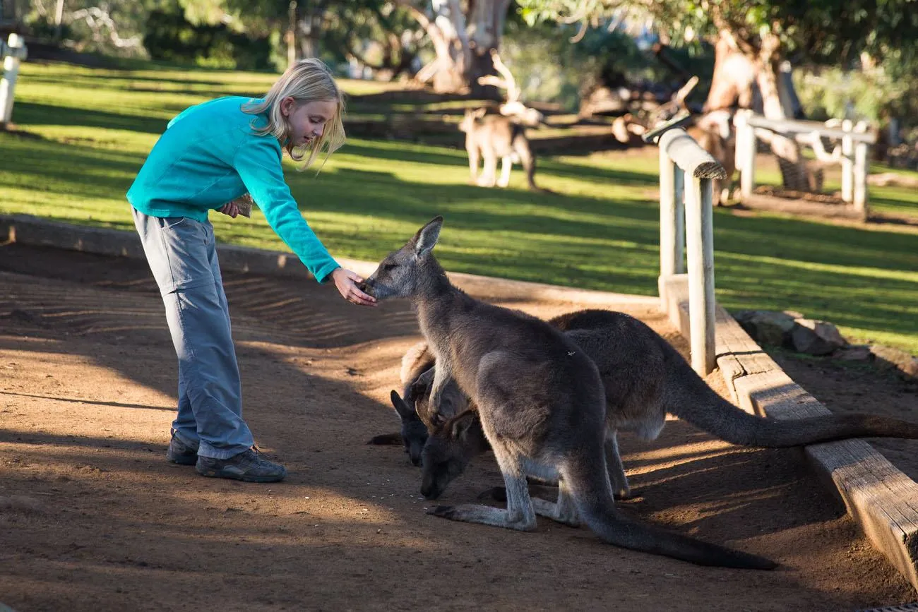
<svg viewBox="0 0 918 612">
<path fill-rule="evenodd" d="M 514 162 L 522 164 L 526 181 L 532 191 L 546 191 L 535 184 L 535 156 L 526 129 L 502 115 L 486 115 L 487 108 L 466 110 L 459 123 L 465 132 L 465 150 L 472 182 L 482 187 L 506 187 L 510 181 L 510 168 Z M 501 161 L 500 178 L 497 178 L 498 157 Z M 484 158 L 485 168 L 478 176 L 478 161 Z"/>
</svg>

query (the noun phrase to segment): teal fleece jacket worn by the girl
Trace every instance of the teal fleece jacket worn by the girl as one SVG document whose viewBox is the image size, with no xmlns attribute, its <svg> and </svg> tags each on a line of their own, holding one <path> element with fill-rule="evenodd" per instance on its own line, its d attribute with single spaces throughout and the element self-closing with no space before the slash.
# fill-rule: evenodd
<svg viewBox="0 0 918 612">
<path fill-rule="evenodd" d="M 151 217 L 205 221 L 246 192 L 271 228 L 319 283 L 338 268 L 299 212 L 281 168 L 280 143 L 252 131 L 266 118 L 243 113 L 255 98 L 224 97 L 185 109 L 169 122 L 128 191 L 128 201 Z"/>
</svg>

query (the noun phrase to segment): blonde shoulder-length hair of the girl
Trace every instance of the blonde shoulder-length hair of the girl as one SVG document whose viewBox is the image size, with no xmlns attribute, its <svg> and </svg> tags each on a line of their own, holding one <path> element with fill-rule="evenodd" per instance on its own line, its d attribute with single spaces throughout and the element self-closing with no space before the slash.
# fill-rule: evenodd
<svg viewBox="0 0 918 612">
<path fill-rule="evenodd" d="M 288 96 L 296 100 L 297 105 L 307 102 L 331 101 L 337 103 L 338 106 L 334 117 L 329 119 L 322 130 L 322 135 L 301 147 L 294 147 L 293 139 L 290 136 L 290 124 L 281 113 L 281 101 Z M 264 95 L 263 102 L 250 102 L 242 105 L 242 112 L 250 115 L 265 115 L 268 119 L 267 124 L 259 126 L 256 125 L 259 123 L 258 119 L 252 119 L 252 130 L 259 136 L 268 134 L 274 136 L 293 160 L 306 159 L 300 170 L 306 170 L 323 148 L 327 150 L 325 160 L 322 161 L 324 165 L 331 153 L 340 149 L 344 144 L 344 125 L 341 122 L 341 117 L 344 115 L 344 94 L 331 76 L 329 67 L 316 58 L 297 61 L 287 68 L 271 90 Z"/>
</svg>

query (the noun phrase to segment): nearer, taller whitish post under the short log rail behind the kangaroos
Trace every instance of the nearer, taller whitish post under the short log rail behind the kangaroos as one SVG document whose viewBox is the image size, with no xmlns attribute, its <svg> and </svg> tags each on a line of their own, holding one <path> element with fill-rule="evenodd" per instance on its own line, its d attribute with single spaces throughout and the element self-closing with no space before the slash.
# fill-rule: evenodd
<svg viewBox="0 0 918 612">
<path fill-rule="evenodd" d="M 686 189 L 691 365 L 700 376 L 714 370 L 714 229 L 711 179 L 692 177 Z"/>
</svg>

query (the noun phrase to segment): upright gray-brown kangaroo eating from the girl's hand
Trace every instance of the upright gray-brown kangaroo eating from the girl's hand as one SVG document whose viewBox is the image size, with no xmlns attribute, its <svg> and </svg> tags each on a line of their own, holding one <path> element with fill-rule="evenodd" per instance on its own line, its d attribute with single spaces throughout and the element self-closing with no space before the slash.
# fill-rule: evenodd
<svg viewBox="0 0 918 612">
<path fill-rule="evenodd" d="M 606 401 L 596 365 L 545 321 L 454 287 L 432 254 L 442 222 L 434 218 L 386 256 L 364 291 L 413 302 L 437 361 L 431 405 L 440 404 L 450 379 L 475 402 L 504 477 L 507 508 L 436 506 L 430 514 L 523 531 L 535 528 L 537 514 L 568 525 L 583 520 L 602 540 L 624 548 L 704 565 L 774 568 L 762 557 L 621 517 L 606 472 Z M 556 480 L 557 502 L 530 497 L 527 474 Z"/>
</svg>

